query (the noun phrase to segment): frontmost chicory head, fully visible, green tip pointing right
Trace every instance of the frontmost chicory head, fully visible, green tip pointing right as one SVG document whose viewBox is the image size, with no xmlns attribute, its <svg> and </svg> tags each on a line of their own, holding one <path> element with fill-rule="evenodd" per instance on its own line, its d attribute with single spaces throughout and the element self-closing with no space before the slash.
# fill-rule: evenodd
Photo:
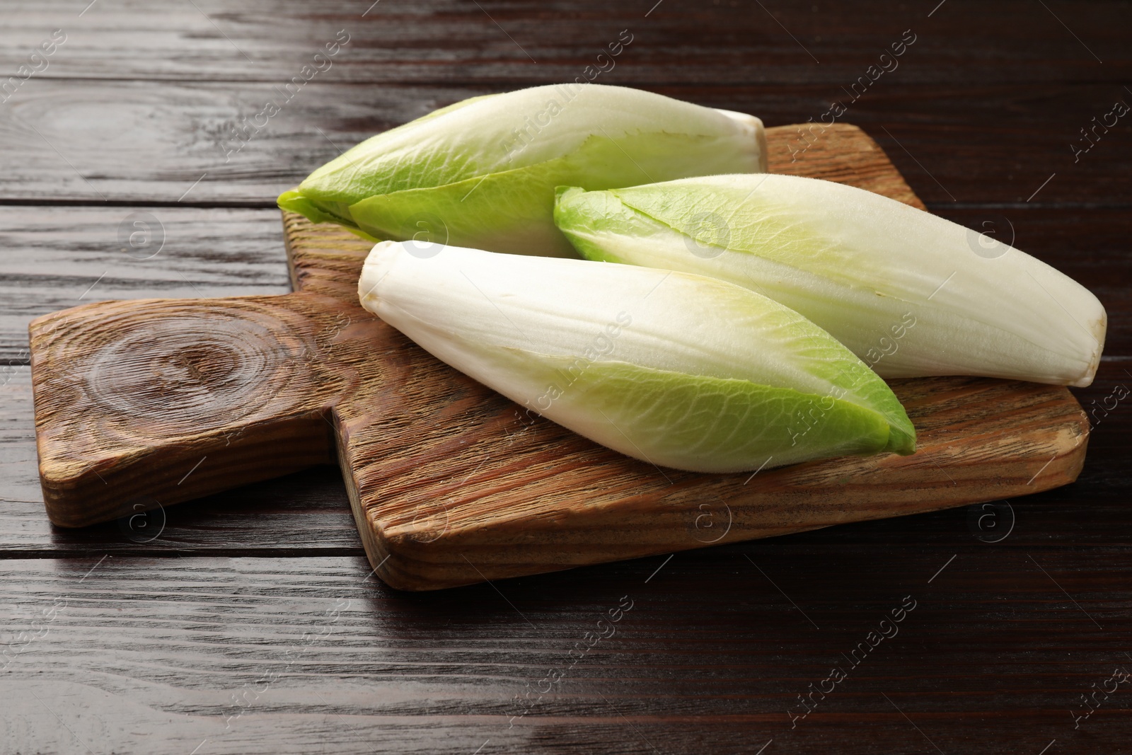
<svg viewBox="0 0 1132 755">
<path fill-rule="evenodd" d="M 653 464 L 738 472 L 915 449 L 875 372 L 797 312 L 715 278 L 386 241 L 359 295 L 438 359 Z"/>
</svg>

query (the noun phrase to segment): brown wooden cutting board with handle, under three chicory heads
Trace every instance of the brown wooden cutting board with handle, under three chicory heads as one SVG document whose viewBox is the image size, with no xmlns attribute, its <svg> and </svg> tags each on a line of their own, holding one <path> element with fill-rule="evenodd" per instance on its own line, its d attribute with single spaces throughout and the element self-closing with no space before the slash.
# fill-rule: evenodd
<svg viewBox="0 0 1132 755">
<path fill-rule="evenodd" d="M 860 129 L 799 129 L 767 130 L 772 172 L 923 208 Z M 1088 423 L 1066 388 L 960 377 L 892 381 L 919 436 L 912 456 L 658 469 L 437 361 L 358 306 L 369 243 L 283 223 L 294 293 L 106 301 L 32 323 L 54 524 L 337 457 L 377 575 L 432 590 L 1015 497 L 1072 482 L 1084 460 Z"/>
</svg>

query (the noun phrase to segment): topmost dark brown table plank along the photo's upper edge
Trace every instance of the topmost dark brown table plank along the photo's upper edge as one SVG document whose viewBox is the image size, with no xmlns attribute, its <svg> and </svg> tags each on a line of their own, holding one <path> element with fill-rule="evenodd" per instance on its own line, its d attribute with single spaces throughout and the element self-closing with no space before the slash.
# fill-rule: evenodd
<svg viewBox="0 0 1132 755">
<path fill-rule="evenodd" d="M 880 0 L 843 12 L 807 3 L 653 5 L 426 0 L 368 7 L 335 0 L 314 14 L 297 1 L 100 0 L 79 17 L 67 0 L 18 0 L 8 6 L 0 70 L 15 72 L 58 27 L 66 42 L 41 76 L 284 83 L 344 29 L 349 44 L 329 68 L 324 63 L 318 80 L 558 83 L 601 65 L 608 72 L 598 80 L 616 72 L 646 85 L 849 86 L 910 28 L 915 37 L 908 38 L 916 41 L 892 75 L 911 84 L 1127 78 L 1124 29 L 1132 19 L 1126 7 L 1110 2 L 1054 2 L 1035 12 L 1023 0 L 951 0 L 931 17 L 931 7 Z M 632 43 L 609 69 L 597 55 L 619 37 Z"/>
</svg>

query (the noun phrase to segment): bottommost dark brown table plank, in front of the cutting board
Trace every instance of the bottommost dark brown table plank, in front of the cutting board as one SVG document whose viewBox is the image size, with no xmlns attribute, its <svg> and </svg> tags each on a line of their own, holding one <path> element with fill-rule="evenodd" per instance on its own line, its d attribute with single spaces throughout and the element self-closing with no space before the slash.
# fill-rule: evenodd
<svg viewBox="0 0 1132 755">
<path fill-rule="evenodd" d="M 762 541 L 432 594 L 376 584 L 360 557 L 7 559 L 0 736 L 20 753 L 1120 752 L 1121 695 L 1077 730 L 1069 711 L 1129 664 L 1125 552 Z M 859 651 L 878 629 L 894 636 Z M 831 668 L 848 678 L 792 720 Z"/>
</svg>

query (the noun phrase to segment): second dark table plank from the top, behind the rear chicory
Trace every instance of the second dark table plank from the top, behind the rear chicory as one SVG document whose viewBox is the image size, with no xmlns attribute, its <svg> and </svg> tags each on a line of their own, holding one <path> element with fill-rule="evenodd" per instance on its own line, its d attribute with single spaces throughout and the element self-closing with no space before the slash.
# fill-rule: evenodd
<svg viewBox="0 0 1132 755">
<path fill-rule="evenodd" d="M 93 11 L 92 11 L 93 12 Z M 615 70 L 619 72 L 619 69 Z M 620 79 L 610 79 L 621 84 Z M 882 86 L 883 85 L 883 86 Z M 393 86 L 311 83 L 245 141 L 232 135 L 275 84 L 32 80 L 0 109 L 0 203 L 243 203 L 278 194 L 354 144 L 469 96 L 521 85 Z M 767 126 L 820 122 L 840 81 L 821 85 L 654 86 L 751 112 Z M 841 122 L 865 128 L 933 203 L 1127 207 L 1132 118 L 1074 163 L 1080 129 L 1129 97 L 1116 84 L 917 86 L 877 81 Z M 103 103 L 113 102 L 111 113 Z M 152 128 L 153 113 L 161 128 Z M 887 129 L 887 131 L 885 131 Z M 795 139 L 803 148 L 805 139 Z M 250 134 L 250 132 L 249 132 Z M 1084 141 L 1081 141 L 1084 144 Z M 242 145 L 242 146 L 241 146 Z M 1048 185 L 1041 185 L 1057 173 Z M 1040 191 L 1038 191 L 1040 189 Z"/>
</svg>

